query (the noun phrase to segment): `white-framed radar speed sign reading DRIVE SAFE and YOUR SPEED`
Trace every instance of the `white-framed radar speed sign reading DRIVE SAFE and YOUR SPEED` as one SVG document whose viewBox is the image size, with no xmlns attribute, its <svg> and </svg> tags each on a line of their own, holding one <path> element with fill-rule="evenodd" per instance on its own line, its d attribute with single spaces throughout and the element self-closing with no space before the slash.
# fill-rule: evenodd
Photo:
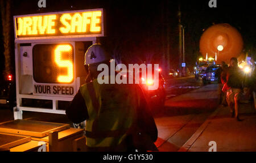
<svg viewBox="0 0 256 163">
<path fill-rule="evenodd" d="M 84 84 L 84 54 L 104 36 L 103 9 L 14 16 L 16 101 L 22 111 L 65 114 Z"/>
</svg>

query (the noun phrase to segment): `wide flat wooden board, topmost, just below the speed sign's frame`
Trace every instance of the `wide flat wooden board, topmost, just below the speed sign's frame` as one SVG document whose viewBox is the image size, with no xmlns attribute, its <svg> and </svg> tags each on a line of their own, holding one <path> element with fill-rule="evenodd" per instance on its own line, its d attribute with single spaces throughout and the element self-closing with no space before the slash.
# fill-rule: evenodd
<svg viewBox="0 0 256 163">
<path fill-rule="evenodd" d="M 68 124 L 41 122 L 16 119 L 11 122 L 0 124 L 0 132 L 27 135 L 38 138 L 48 136 L 50 131 L 63 131 L 70 128 Z"/>
</svg>

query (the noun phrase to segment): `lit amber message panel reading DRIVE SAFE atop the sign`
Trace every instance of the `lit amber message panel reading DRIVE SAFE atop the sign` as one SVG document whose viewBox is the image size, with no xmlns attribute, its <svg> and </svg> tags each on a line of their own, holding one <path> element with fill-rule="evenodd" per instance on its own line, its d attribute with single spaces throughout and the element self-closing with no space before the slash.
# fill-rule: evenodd
<svg viewBox="0 0 256 163">
<path fill-rule="evenodd" d="M 16 18 L 16 36 L 61 36 L 101 32 L 102 11 L 87 11 Z"/>
</svg>

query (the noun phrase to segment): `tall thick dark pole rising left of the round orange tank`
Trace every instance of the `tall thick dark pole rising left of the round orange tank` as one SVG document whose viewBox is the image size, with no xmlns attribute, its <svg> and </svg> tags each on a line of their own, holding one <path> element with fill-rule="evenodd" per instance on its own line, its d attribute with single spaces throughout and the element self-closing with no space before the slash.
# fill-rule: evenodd
<svg viewBox="0 0 256 163">
<path fill-rule="evenodd" d="M 179 20 L 179 76 L 181 77 L 181 63 L 182 63 L 182 26 L 181 26 L 181 11 L 180 11 L 180 1 L 179 1 L 179 4 L 178 4 L 178 13 L 177 13 L 177 16 L 178 16 L 178 20 Z"/>
</svg>

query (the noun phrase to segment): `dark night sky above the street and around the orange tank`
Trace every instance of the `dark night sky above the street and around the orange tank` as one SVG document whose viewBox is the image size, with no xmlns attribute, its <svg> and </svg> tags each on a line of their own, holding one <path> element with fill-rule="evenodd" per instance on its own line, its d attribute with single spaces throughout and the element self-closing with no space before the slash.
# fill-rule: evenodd
<svg viewBox="0 0 256 163">
<path fill-rule="evenodd" d="M 255 57 L 255 1 L 217 0 L 217 8 L 210 8 L 208 2 L 209 0 L 180 1 L 187 65 L 195 65 L 196 58 L 200 55 L 199 40 L 203 29 L 218 23 L 229 23 L 236 27 L 243 37 L 244 52 Z M 163 55 L 168 53 L 170 67 L 178 66 L 178 1 L 47 0 L 46 8 L 40 10 L 37 3 L 38 0 L 13 0 L 12 15 L 104 8 L 104 28 L 108 37 L 102 39 L 102 42 L 110 50 L 115 49 L 114 53 L 120 54 L 123 62 L 143 62 L 149 59 L 148 61 L 160 63 L 161 66 L 167 62 Z M 2 45 L 2 36 L 0 41 Z M 2 53 L 1 46 L 1 61 Z"/>
</svg>

